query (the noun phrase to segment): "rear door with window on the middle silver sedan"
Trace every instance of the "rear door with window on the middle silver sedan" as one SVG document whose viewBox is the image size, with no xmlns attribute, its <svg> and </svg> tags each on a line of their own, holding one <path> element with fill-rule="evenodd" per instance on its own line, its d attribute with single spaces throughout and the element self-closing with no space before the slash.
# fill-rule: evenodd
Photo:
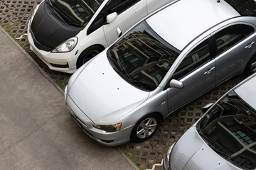
<svg viewBox="0 0 256 170">
<path fill-rule="evenodd" d="M 213 34 L 217 47 L 217 84 L 244 72 L 247 62 L 253 55 L 256 39 L 255 35 L 252 35 L 254 32 L 253 26 L 238 23 Z"/>
</svg>

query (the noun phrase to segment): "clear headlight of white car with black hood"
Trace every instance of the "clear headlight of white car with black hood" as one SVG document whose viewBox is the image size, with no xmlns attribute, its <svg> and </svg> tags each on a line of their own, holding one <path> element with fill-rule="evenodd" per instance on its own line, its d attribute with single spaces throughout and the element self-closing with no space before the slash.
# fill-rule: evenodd
<svg viewBox="0 0 256 170">
<path fill-rule="evenodd" d="M 70 38 L 56 47 L 52 52 L 70 52 L 78 43 L 78 38 Z"/>
</svg>

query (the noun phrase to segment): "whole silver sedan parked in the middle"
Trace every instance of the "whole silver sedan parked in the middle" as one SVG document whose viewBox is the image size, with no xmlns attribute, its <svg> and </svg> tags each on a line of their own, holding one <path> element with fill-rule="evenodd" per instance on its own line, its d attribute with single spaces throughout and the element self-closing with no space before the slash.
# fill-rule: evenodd
<svg viewBox="0 0 256 170">
<path fill-rule="evenodd" d="M 229 1 L 175 1 L 85 63 L 65 89 L 75 121 L 104 145 L 146 140 L 176 109 L 256 72 L 256 5 Z"/>
</svg>

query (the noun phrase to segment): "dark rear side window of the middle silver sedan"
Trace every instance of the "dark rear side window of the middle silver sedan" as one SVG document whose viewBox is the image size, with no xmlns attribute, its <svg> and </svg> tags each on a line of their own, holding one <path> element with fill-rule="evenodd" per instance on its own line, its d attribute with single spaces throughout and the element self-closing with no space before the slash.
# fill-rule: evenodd
<svg viewBox="0 0 256 170">
<path fill-rule="evenodd" d="M 218 54 L 225 52 L 230 47 L 238 44 L 241 40 L 244 40 L 254 32 L 252 26 L 243 24 L 230 26 L 215 34 L 215 40 L 217 43 Z"/>
</svg>

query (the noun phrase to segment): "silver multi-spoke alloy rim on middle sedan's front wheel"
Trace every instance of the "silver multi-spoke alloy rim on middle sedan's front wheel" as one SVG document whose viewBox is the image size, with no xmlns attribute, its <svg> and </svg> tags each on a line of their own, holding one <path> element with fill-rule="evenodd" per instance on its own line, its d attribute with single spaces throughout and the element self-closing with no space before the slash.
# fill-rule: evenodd
<svg viewBox="0 0 256 170">
<path fill-rule="evenodd" d="M 146 139 L 154 133 L 157 128 L 157 120 L 155 118 L 146 118 L 139 124 L 137 128 L 137 137 Z"/>
</svg>

